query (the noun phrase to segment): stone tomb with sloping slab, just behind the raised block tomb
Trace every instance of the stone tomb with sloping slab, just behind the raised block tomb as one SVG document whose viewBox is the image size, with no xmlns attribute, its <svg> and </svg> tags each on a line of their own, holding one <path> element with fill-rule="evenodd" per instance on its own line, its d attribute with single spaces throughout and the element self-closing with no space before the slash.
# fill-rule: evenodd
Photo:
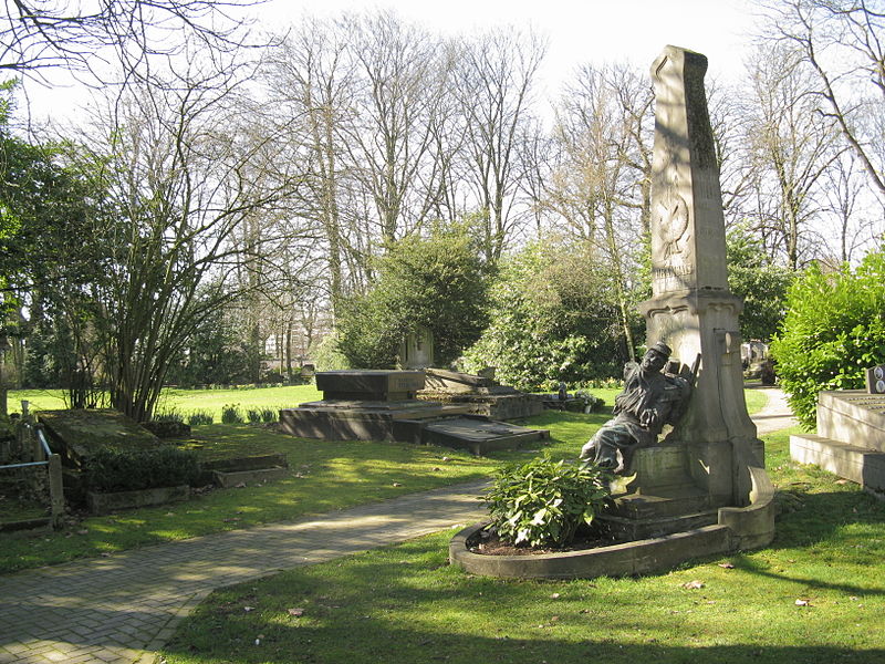
<svg viewBox="0 0 885 664">
<path fill-rule="evenodd" d="M 500 385 L 494 378 L 446 369 L 426 369 L 425 388 L 418 398 L 466 406 L 472 415 L 493 419 L 518 419 L 540 415 L 543 398 Z"/>
</svg>

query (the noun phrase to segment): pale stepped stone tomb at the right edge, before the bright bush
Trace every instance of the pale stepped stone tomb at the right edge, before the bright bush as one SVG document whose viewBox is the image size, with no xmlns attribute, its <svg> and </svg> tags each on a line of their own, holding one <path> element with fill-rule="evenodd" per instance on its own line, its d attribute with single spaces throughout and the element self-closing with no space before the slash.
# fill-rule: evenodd
<svg viewBox="0 0 885 664">
<path fill-rule="evenodd" d="M 885 498 L 885 394 L 821 392 L 818 434 L 790 436 L 790 456 Z"/>
</svg>

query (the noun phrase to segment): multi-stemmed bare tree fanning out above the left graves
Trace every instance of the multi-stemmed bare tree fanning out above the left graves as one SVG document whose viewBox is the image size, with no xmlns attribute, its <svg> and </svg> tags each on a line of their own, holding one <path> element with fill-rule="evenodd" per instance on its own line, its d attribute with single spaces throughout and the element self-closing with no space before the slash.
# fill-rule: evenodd
<svg viewBox="0 0 885 664">
<path fill-rule="evenodd" d="M 195 59 L 194 69 L 210 68 Z M 228 279 L 241 260 L 237 229 L 292 184 L 250 176 L 280 142 L 244 131 L 251 115 L 237 94 L 246 72 L 170 76 L 110 103 L 72 156 L 105 193 L 94 325 L 112 405 L 137 421 L 150 416 L 194 331 L 239 294 Z M 210 282 L 222 286 L 200 288 Z"/>
</svg>

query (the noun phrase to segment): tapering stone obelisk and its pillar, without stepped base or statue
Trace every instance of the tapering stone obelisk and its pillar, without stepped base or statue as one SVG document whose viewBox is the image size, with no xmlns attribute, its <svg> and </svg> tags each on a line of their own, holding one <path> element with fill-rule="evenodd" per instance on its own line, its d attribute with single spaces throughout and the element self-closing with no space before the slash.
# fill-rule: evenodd
<svg viewBox="0 0 885 664">
<path fill-rule="evenodd" d="M 666 46 L 652 65 L 655 145 L 652 166 L 653 297 L 641 305 L 648 343 L 700 370 L 688 412 L 665 444 L 683 445 L 688 473 L 710 505 L 746 505 L 748 465 L 761 442 L 747 414 L 738 314 L 728 290 L 722 194 L 704 92 L 707 59 Z"/>
</svg>

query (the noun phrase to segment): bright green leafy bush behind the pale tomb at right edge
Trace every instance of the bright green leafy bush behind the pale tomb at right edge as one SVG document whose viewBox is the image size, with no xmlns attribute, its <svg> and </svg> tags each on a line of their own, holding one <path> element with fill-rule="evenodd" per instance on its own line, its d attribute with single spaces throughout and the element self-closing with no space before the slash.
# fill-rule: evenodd
<svg viewBox="0 0 885 664">
<path fill-rule="evenodd" d="M 790 288 L 771 344 L 780 384 L 799 422 L 812 428 L 818 393 L 864 386 L 864 369 L 885 363 L 885 253 L 852 271 L 812 266 Z"/>
</svg>

